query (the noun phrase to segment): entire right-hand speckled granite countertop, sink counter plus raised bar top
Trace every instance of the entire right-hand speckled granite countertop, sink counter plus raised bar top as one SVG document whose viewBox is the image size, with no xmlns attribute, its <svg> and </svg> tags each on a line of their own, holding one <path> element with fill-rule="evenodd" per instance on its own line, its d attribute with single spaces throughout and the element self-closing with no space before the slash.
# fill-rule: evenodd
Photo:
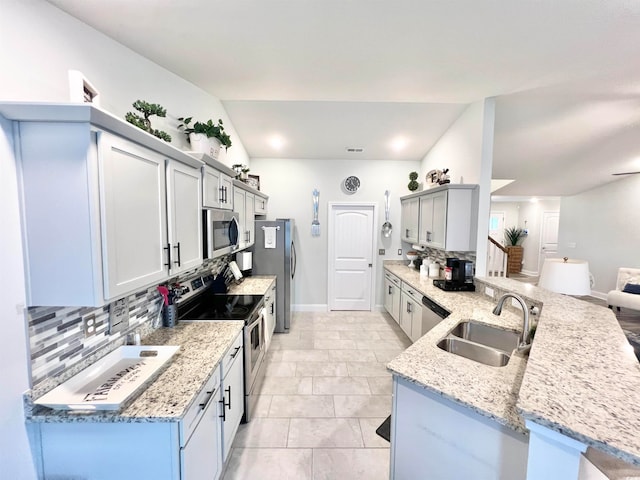
<svg viewBox="0 0 640 480">
<path fill-rule="evenodd" d="M 435 345 L 458 319 L 467 315 L 469 308 L 475 308 L 478 315 L 482 312 L 486 315 L 488 311 L 487 318 L 493 317 L 490 311 L 495 300 L 487 302 L 488 297 L 480 292 L 443 292 L 431 285 L 431 279 L 420 279 L 416 270 L 405 265 L 385 263 L 385 268 L 454 312 L 394 359 L 388 365 L 392 371 L 517 430 L 523 419 L 532 420 L 640 465 L 640 364 L 611 310 L 510 279 L 477 279 L 497 290 L 518 293 L 526 300 L 543 305 L 529 358 L 517 366 L 510 380 L 508 371 L 503 375 L 490 374 L 509 366 L 479 370 L 478 367 L 484 366 L 470 365 L 470 361 L 463 365 L 461 362 L 465 359 L 451 358 L 453 355 L 448 355 L 443 367 L 444 360 L 438 357 L 446 352 Z M 501 317 L 494 318 L 504 316 L 503 311 Z M 474 315 L 474 318 L 478 317 Z M 515 318 L 519 323 L 519 316 Z M 510 365 L 514 358 L 511 357 Z M 411 360 L 438 366 L 412 366 Z M 482 374 L 476 381 L 482 378 L 486 385 L 474 386 L 470 382 L 473 375 L 461 373 L 459 368 Z M 511 384 L 507 385 L 509 381 Z M 496 396 L 491 401 L 496 406 L 492 407 L 483 395 L 467 394 L 467 388 L 481 388 L 481 393 L 494 392 Z M 498 395 L 504 397 L 499 399 Z M 496 415 L 501 407 L 504 408 L 502 414 Z"/>
</svg>

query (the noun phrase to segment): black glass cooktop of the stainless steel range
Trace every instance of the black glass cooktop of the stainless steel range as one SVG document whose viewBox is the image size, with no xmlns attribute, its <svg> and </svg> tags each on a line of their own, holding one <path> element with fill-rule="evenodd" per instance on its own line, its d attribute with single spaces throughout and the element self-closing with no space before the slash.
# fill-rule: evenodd
<svg viewBox="0 0 640 480">
<path fill-rule="evenodd" d="M 179 320 L 248 320 L 262 303 L 262 295 L 206 293 L 178 307 Z"/>
</svg>

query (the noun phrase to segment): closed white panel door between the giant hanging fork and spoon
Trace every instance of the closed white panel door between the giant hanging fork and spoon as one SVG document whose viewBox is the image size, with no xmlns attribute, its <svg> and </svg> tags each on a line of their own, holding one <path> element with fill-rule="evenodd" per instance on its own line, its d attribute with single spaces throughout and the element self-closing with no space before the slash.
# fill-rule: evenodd
<svg viewBox="0 0 640 480">
<path fill-rule="evenodd" d="M 329 310 L 371 310 L 375 205 L 330 204 Z"/>
</svg>

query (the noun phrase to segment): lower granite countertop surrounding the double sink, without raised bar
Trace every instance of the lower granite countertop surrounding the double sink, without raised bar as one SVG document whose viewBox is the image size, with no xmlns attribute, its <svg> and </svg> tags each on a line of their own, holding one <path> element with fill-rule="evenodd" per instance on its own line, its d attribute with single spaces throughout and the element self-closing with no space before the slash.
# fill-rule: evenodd
<svg viewBox="0 0 640 480">
<path fill-rule="evenodd" d="M 493 315 L 494 302 L 472 292 L 440 290 L 433 286 L 433 278 L 420 277 L 419 272 L 408 268 L 406 263 L 385 263 L 384 266 L 403 282 L 451 312 L 393 359 L 387 368 L 416 385 L 525 433 L 524 420 L 516 409 L 525 358 L 513 355 L 506 366 L 497 368 L 453 355 L 436 346 L 461 320 L 473 318 L 519 331 L 522 328 L 521 317 L 506 310 L 500 316 Z"/>
</svg>

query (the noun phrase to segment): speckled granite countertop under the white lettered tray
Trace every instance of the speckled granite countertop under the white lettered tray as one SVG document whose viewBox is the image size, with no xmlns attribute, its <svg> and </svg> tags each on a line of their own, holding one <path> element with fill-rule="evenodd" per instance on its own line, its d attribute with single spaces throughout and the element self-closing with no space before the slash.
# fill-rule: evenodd
<svg viewBox="0 0 640 480">
<path fill-rule="evenodd" d="M 159 328 L 144 345 L 180 345 L 167 368 L 126 408 L 119 412 L 78 413 L 35 407 L 27 421 L 173 422 L 180 420 L 222 357 L 242 331 L 243 323 L 181 322 Z"/>
</svg>

